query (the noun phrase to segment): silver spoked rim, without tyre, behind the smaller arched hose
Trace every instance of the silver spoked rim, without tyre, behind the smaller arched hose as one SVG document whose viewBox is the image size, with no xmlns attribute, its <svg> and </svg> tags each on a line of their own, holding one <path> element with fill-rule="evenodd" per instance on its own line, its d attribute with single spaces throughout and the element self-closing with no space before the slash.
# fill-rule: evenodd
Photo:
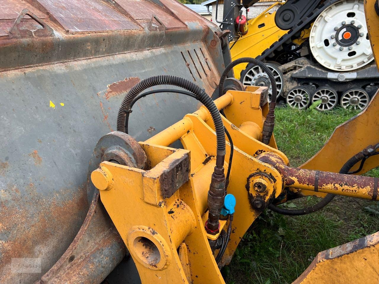
<svg viewBox="0 0 379 284">
<path fill-rule="evenodd" d="M 273 73 L 274 78 L 276 80 L 277 97 L 279 97 L 282 94 L 282 90 L 283 90 L 283 77 L 278 72 L 278 70 L 276 70 L 273 66 L 269 64 L 267 66 Z M 270 80 L 269 80 L 268 75 L 265 72 L 263 72 L 262 68 L 259 66 L 254 66 L 249 71 L 246 72 L 246 75 L 244 76 L 242 83 L 248 86 L 268 87 L 268 94 L 269 94 L 269 101 L 270 101 L 271 95 L 273 94 L 273 89 L 271 87 L 271 84 L 269 84 L 269 81 Z M 256 83 L 258 83 L 259 85 L 257 85 Z M 260 84 L 260 83 L 265 83 L 265 84 Z"/>
</svg>

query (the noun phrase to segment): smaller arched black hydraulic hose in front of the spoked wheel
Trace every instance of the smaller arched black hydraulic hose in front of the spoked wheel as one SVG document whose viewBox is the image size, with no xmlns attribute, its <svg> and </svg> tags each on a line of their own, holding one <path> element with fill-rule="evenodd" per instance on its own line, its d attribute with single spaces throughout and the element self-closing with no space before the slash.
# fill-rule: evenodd
<svg viewBox="0 0 379 284">
<path fill-rule="evenodd" d="M 262 142 L 266 145 L 269 144 L 271 136 L 273 135 L 274 131 L 274 125 L 275 125 L 275 107 L 276 107 L 276 98 L 277 98 L 277 87 L 276 87 L 276 80 L 273 75 L 273 72 L 271 72 L 270 68 L 263 63 L 262 61 L 252 58 L 252 57 L 243 57 L 238 58 L 234 61 L 232 61 L 222 72 L 220 83 L 219 83 L 219 89 L 218 89 L 218 96 L 221 97 L 224 95 L 224 81 L 227 77 L 227 74 L 232 70 L 233 67 L 237 66 L 241 63 L 252 63 L 262 68 L 263 72 L 265 72 L 268 75 L 268 78 L 270 80 L 271 84 L 271 103 L 269 106 L 268 114 L 266 115 L 266 120 L 263 123 L 263 131 L 262 131 Z M 223 112 L 221 112 L 223 114 Z"/>
</svg>

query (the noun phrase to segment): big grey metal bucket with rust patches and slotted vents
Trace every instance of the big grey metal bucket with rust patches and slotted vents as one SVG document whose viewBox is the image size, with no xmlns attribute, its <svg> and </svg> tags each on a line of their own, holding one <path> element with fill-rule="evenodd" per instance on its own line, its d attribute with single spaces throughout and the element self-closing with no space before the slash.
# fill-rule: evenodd
<svg viewBox="0 0 379 284">
<path fill-rule="evenodd" d="M 221 36 L 175 0 L 1 0 L 0 283 L 99 283 L 122 260 L 101 204 L 90 206 L 92 151 L 144 78 L 177 75 L 212 94 L 230 59 Z M 198 107 L 141 99 L 130 134 L 145 140 Z M 35 271 L 20 273 L 28 261 Z M 108 282 L 139 281 L 122 273 Z"/>
</svg>

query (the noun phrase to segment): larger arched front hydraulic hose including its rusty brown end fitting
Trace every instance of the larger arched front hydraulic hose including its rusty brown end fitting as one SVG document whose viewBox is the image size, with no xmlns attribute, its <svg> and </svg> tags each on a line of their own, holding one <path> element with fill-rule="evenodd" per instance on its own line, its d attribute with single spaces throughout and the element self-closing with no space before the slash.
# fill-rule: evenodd
<svg viewBox="0 0 379 284">
<path fill-rule="evenodd" d="M 211 176 L 211 183 L 208 190 L 208 220 L 205 222 L 205 229 L 210 234 L 217 234 L 220 229 L 220 213 L 224 206 L 225 199 L 225 174 L 224 161 L 226 154 L 225 129 L 222 123 L 221 114 L 214 101 L 208 96 L 204 89 L 184 78 L 170 75 L 160 75 L 147 78 L 137 83 L 125 95 L 122 100 L 117 115 L 117 131 L 128 133 L 127 121 L 129 119 L 132 101 L 144 90 L 158 85 L 173 85 L 182 87 L 196 95 L 199 100 L 210 112 L 213 123 L 215 124 L 217 140 L 216 166 Z"/>
</svg>

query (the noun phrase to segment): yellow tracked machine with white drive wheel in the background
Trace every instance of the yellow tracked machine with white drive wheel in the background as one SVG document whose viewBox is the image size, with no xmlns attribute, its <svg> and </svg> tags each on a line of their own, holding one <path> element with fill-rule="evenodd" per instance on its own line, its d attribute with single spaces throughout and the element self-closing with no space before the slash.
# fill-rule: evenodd
<svg viewBox="0 0 379 284">
<path fill-rule="evenodd" d="M 265 61 L 275 75 L 279 96 L 291 107 L 304 109 L 318 100 L 319 111 L 338 104 L 358 110 L 368 105 L 379 73 L 363 0 L 276 2 L 247 20 L 241 9 L 257 2 L 223 2 L 223 17 L 217 22 L 230 31 L 233 60 L 251 56 Z M 216 11 L 216 19 L 220 16 Z M 244 85 L 270 86 L 267 74 L 254 64 L 241 64 L 234 72 Z"/>
</svg>

